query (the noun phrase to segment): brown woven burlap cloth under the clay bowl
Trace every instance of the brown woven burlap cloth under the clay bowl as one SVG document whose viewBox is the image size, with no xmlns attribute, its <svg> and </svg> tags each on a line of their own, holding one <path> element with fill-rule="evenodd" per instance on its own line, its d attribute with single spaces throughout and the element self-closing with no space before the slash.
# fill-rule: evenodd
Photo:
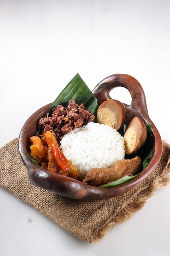
<svg viewBox="0 0 170 256">
<path fill-rule="evenodd" d="M 31 184 L 18 152 L 18 138 L 0 148 L 0 186 L 88 243 L 98 242 L 116 223 L 139 211 L 154 191 L 170 182 L 169 173 L 170 145 L 163 141 L 163 154 L 155 171 L 128 193 L 108 200 L 73 200 Z"/>
</svg>

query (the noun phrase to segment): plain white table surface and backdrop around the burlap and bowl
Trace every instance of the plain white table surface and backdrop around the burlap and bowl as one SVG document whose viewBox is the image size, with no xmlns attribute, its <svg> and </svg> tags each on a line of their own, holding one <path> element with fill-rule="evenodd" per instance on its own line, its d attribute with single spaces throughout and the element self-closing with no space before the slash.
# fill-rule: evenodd
<svg viewBox="0 0 170 256">
<path fill-rule="evenodd" d="M 0 0 L 0 146 L 77 72 L 91 90 L 111 74 L 134 76 L 170 143 L 169 0 Z M 170 185 L 96 244 L 0 188 L 1 256 L 169 256 L 169 241 Z"/>
</svg>

